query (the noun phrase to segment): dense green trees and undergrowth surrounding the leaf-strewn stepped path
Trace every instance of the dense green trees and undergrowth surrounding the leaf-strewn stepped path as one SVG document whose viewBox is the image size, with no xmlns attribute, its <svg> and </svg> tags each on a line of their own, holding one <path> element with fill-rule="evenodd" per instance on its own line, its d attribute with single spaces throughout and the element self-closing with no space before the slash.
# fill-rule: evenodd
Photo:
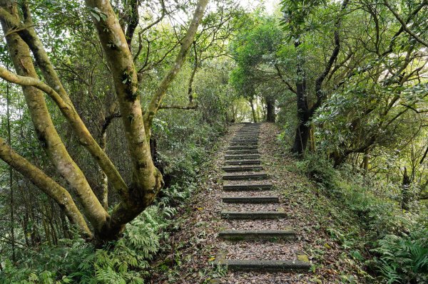
<svg viewBox="0 0 428 284">
<path fill-rule="evenodd" d="M 263 121 L 340 204 L 365 271 L 344 283 L 428 282 L 428 1 L 2 0 L 0 21 L 0 283 L 144 283 L 218 137 Z"/>
</svg>

